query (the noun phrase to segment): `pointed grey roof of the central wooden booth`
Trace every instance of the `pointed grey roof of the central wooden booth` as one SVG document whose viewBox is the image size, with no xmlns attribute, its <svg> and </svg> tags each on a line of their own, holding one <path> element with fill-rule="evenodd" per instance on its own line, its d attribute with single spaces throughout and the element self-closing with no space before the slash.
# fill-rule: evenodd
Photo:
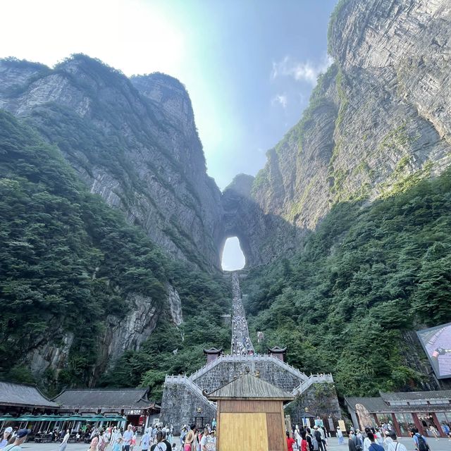
<svg viewBox="0 0 451 451">
<path fill-rule="evenodd" d="M 226 383 L 226 385 L 211 392 L 207 397 L 211 400 L 250 398 L 288 401 L 294 399 L 290 393 L 256 376 L 252 376 L 252 374 L 245 374 L 245 376 L 240 376 L 234 381 Z"/>
</svg>

